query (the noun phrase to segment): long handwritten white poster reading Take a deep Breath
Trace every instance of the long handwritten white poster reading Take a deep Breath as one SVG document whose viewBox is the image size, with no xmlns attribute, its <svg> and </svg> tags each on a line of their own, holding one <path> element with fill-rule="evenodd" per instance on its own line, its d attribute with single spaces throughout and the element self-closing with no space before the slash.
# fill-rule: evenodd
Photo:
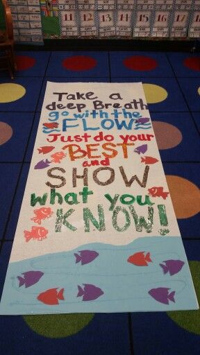
<svg viewBox="0 0 200 355">
<path fill-rule="evenodd" d="M 47 83 L 1 314 L 197 309 L 142 83 Z"/>
</svg>

